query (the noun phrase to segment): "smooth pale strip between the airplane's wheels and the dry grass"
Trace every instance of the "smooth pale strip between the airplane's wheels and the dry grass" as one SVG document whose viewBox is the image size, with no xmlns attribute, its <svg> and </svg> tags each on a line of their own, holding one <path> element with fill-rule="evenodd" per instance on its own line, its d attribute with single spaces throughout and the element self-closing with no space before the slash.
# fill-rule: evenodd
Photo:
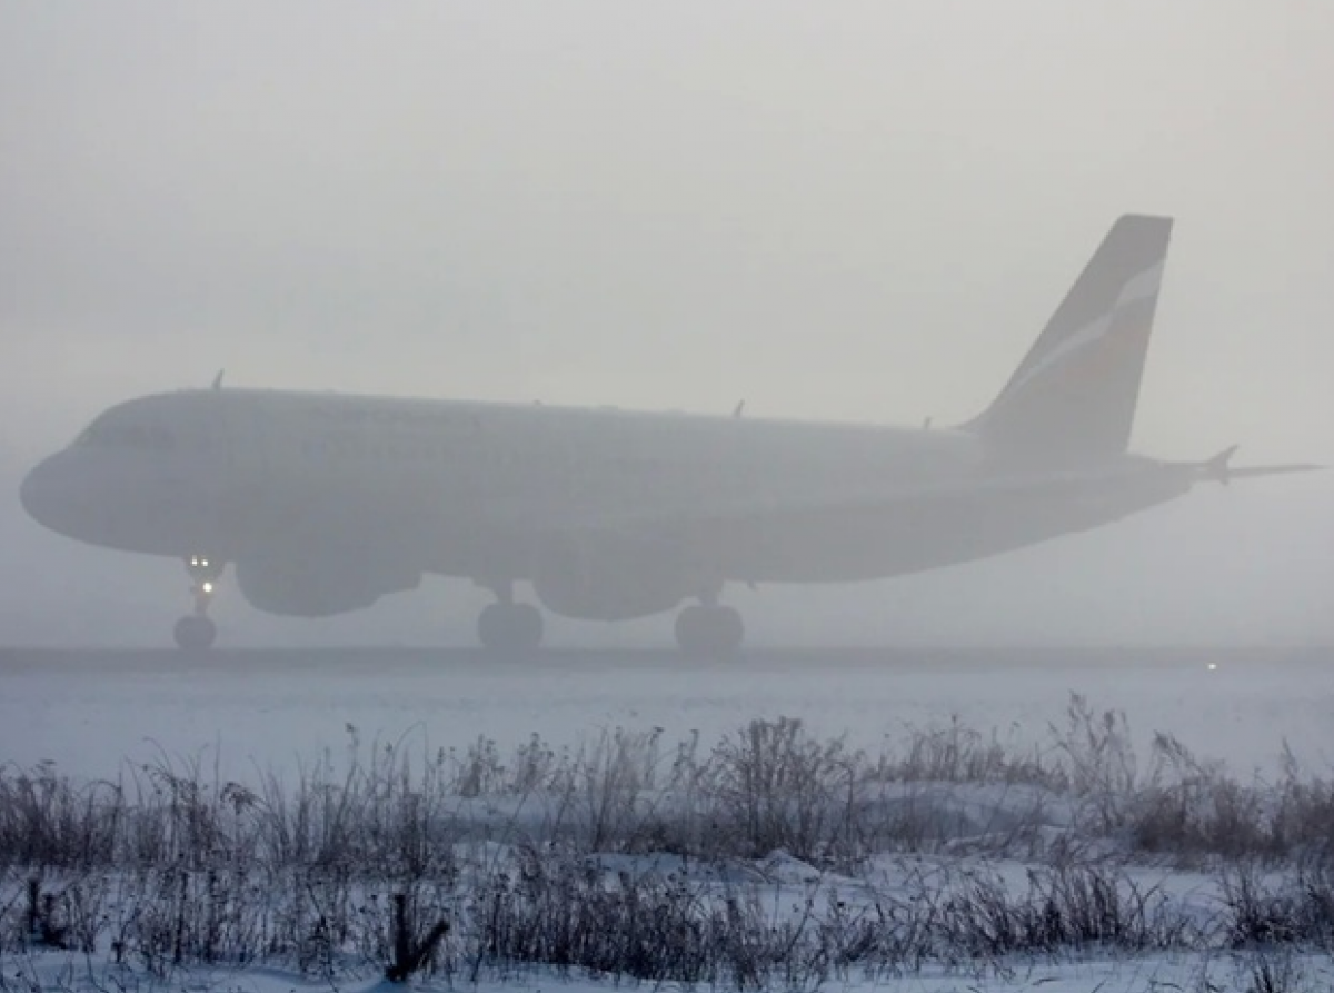
<svg viewBox="0 0 1334 993">
<path fill-rule="evenodd" d="M 800 717 L 875 749 L 958 717 L 1041 743 L 1070 694 L 1125 711 L 1137 739 L 1170 731 L 1234 771 L 1285 741 L 1334 757 L 1334 649 L 784 649 L 727 662 L 674 651 L 0 649 L 0 759 L 111 775 L 124 761 L 199 758 L 244 778 L 346 755 L 354 738 L 507 751 L 532 734 L 603 729 L 706 741 L 755 717 Z M 355 729 L 351 730 L 351 729 Z"/>
</svg>

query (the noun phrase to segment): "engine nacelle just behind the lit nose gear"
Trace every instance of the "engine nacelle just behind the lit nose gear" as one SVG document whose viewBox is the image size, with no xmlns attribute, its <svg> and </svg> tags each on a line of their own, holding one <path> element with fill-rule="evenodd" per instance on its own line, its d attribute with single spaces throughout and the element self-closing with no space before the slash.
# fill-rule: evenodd
<svg viewBox="0 0 1334 993">
<path fill-rule="evenodd" d="M 362 557 L 239 561 L 236 585 L 256 610 L 289 617 L 328 617 L 370 607 L 380 597 L 416 589 L 422 573 Z"/>
</svg>

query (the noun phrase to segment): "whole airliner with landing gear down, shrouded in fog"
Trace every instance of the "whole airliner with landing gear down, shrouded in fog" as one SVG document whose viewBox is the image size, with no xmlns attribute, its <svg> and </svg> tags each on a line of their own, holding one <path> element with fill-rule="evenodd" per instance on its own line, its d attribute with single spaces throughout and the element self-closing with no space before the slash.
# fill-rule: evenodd
<svg viewBox="0 0 1334 993">
<path fill-rule="evenodd" d="M 23 480 L 28 514 L 183 559 L 181 649 L 215 642 L 228 563 L 257 610 L 366 609 L 424 574 L 471 579 L 498 651 L 546 610 L 676 610 L 686 653 L 743 641 L 728 583 L 847 583 L 1083 531 L 1201 482 L 1314 468 L 1127 454 L 1173 220 L 1119 218 L 995 400 L 952 428 L 355 396 L 221 386 L 99 415 Z"/>
</svg>

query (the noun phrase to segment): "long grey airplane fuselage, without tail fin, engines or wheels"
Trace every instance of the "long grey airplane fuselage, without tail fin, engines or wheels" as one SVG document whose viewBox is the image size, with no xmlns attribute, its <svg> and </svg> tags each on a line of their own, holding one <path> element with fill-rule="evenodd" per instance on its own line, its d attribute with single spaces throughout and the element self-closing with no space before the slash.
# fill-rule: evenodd
<svg viewBox="0 0 1334 993">
<path fill-rule="evenodd" d="M 1185 491 L 1145 464 L 1103 466 L 1125 483 L 1111 496 L 1007 499 L 974 486 L 1005 468 L 966 431 L 201 390 L 112 408 L 35 471 L 25 502 L 80 541 L 171 557 L 374 543 L 406 569 L 530 579 L 546 547 L 622 531 L 722 581 L 850 582 Z"/>
</svg>

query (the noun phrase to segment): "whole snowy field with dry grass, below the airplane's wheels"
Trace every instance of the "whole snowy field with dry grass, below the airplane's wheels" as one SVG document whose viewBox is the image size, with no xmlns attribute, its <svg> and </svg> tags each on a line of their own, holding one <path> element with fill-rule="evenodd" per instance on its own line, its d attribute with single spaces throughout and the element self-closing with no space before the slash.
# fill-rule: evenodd
<svg viewBox="0 0 1334 993">
<path fill-rule="evenodd" d="M 0 990 L 400 989 L 379 978 L 392 893 L 420 914 L 416 936 L 455 922 L 410 980 L 423 990 L 1327 990 L 1334 874 L 1303 853 L 1327 857 L 1311 845 L 1334 809 L 1331 663 L 1315 649 L 756 650 L 726 665 L 0 650 Z M 1090 717 L 1071 730 L 1073 694 Z M 747 737 L 779 717 L 807 737 Z M 951 722 L 994 734 L 1005 757 L 972 739 L 980 765 L 940 774 L 951 739 L 930 735 Z M 1231 779 L 1189 763 L 1155 779 L 1155 731 Z M 703 749 L 674 763 L 695 733 Z M 516 786 L 532 735 L 558 751 Z M 836 735 L 868 757 L 822 751 Z M 904 741 L 936 750 L 875 766 Z M 738 778 L 779 751 L 818 775 Z M 470 762 L 476 789 L 460 786 Z M 340 779 L 340 765 L 367 778 Z M 32 789 L 25 770 L 40 769 Z M 1201 819 L 1178 830 L 1178 810 Z M 1241 857 L 1226 853 L 1229 811 L 1239 829 L 1270 825 Z M 103 850 L 104 828 L 123 834 Z M 71 841 L 84 829 L 91 841 Z M 297 836 L 336 837 L 335 857 Z M 395 853 L 410 849 L 420 861 L 404 870 Z M 671 958 L 671 926 L 692 929 L 679 948 L 698 948 L 698 973 Z M 644 978 L 619 970 L 635 961 Z M 663 978 L 678 974 L 694 978 Z"/>
</svg>

